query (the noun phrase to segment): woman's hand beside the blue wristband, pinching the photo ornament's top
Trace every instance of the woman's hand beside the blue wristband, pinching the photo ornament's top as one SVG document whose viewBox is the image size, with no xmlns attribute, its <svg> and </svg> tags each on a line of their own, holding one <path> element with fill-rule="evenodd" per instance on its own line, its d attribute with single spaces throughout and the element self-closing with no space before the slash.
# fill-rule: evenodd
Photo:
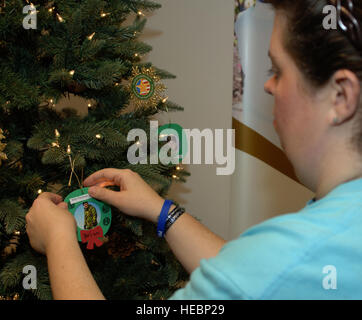
<svg viewBox="0 0 362 320">
<path fill-rule="evenodd" d="M 106 189 L 119 186 L 120 191 Z M 164 199 L 138 173 L 130 169 L 103 169 L 84 180 L 91 197 L 104 201 L 120 211 L 157 223 Z"/>
</svg>

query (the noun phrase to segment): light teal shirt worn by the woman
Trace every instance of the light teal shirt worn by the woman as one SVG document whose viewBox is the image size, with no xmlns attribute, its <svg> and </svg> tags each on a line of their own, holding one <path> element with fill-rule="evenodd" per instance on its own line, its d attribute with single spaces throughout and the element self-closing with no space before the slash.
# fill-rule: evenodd
<svg viewBox="0 0 362 320">
<path fill-rule="evenodd" d="M 171 299 L 362 299 L 362 179 L 248 229 Z"/>
</svg>

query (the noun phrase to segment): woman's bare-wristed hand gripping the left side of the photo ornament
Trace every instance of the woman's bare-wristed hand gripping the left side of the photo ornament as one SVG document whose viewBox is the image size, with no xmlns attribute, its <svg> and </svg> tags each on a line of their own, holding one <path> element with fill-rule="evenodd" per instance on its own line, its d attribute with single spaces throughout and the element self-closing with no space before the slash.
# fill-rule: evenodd
<svg viewBox="0 0 362 320">
<path fill-rule="evenodd" d="M 76 221 L 57 194 L 42 193 L 33 202 L 25 219 L 30 244 L 42 254 L 47 254 L 52 247 L 56 250 L 59 241 L 77 242 Z"/>
</svg>

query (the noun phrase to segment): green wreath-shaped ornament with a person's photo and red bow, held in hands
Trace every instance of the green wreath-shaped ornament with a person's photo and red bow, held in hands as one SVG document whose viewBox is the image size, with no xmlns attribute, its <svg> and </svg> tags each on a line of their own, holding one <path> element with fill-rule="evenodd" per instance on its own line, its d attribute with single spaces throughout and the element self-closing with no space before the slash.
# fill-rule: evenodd
<svg viewBox="0 0 362 320">
<path fill-rule="evenodd" d="M 111 207 L 92 198 L 88 188 L 73 191 L 64 201 L 77 223 L 78 241 L 87 242 L 90 238 L 97 240 L 108 232 L 112 219 Z"/>
</svg>

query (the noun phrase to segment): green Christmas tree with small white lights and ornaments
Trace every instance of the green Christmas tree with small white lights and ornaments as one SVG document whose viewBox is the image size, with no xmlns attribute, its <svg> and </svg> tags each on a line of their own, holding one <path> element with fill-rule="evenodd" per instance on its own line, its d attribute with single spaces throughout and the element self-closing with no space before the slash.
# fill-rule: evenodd
<svg viewBox="0 0 362 320">
<path fill-rule="evenodd" d="M 113 167 L 139 173 L 165 197 L 189 175 L 172 163 L 127 160 L 132 128 L 148 133 L 154 115 L 183 110 L 164 95 L 161 79 L 174 76 L 142 61 L 152 49 L 138 39 L 144 13 L 159 7 L 148 0 L 0 1 L 0 298 L 52 298 L 46 258 L 25 230 L 39 193 L 64 198 L 84 177 Z M 133 92 L 140 74 L 154 89 L 149 97 Z M 77 105 L 57 109 L 72 96 L 86 101 L 86 115 Z M 166 299 L 187 280 L 152 223 L 112 208 L 103 242 L 80 246 L 108 299 Z M 36 289 L 24 289 L 28 265 L 36 268 Z"/>
</svg>

